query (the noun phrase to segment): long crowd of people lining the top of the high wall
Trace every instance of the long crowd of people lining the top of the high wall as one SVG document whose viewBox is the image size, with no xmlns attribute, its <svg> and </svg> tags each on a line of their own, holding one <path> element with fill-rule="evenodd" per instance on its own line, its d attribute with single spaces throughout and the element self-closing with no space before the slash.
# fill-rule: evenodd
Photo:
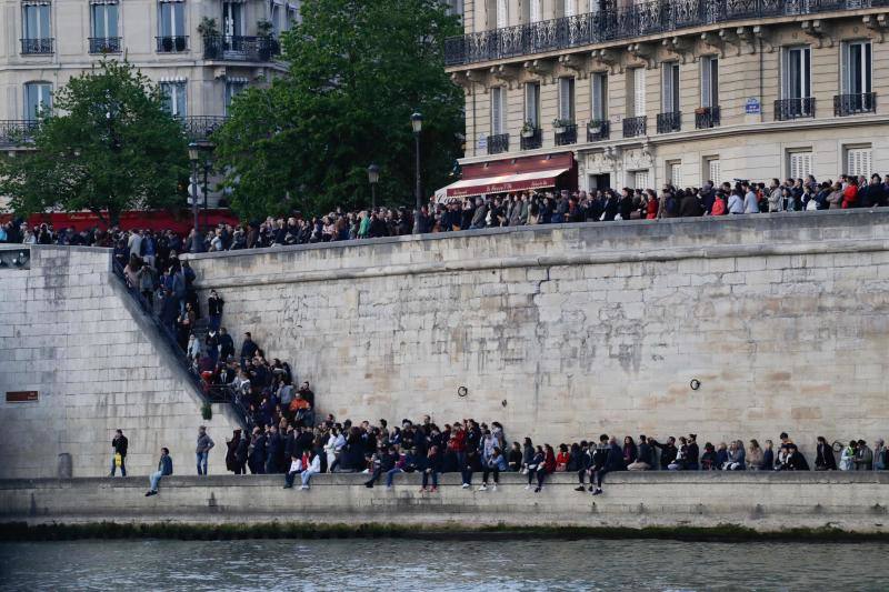
<svg viewBox="0 0 889 592">
<path fill-rule="evenodd" d="M 653 189 L 597 189 L 592 191 L 521 191 L 495 195 L 450 199 L 434 198 L 419 215 L 421 233 L 480 230 L 486 228 L 598 222 L 615 220 L 658 220 L 662 218 L 710 217 L 742 213 L 798 212 L 828 209 L 876 208 L 889 204 L 889 175 L 842 175 L 817 181 L 772 179 L 769 182 L 737 180 L 700 188 L 665 184 Z M 204 232 L 179 237 L 172 231 L 134 231 L 144 239 L 143 257 L 163 259 L 169 252 L 191 251 L 198 241 L 201 252 L 232 251 L 276 245 L 309 244 L 413 232 L 414 211 L 409 208 L 377 208 L 308 217 L 300 212 L 284 218 L 267 218 L 239 225 L 218 224 Z M 121 250 L 132 232 L 118 229 L 76 231 L 54 230 L 51 224 L 29 227 L 21 220 L 0 224 L 0 242 L 74 244 Z M 130 252 L 132 250 L 130 249 Z M 161 267 L 161 269 L 166 269 Z"/>
</svg>

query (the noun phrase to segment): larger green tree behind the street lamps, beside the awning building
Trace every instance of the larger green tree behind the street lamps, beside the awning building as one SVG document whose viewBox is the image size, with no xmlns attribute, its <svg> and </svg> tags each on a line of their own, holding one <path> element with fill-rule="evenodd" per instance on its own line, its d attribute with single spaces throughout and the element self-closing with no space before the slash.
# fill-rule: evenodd
<svg viewBox="0 0 889 592">
<path fill-rule="evenodd" d="M 371 162 L 380 202 L 413 203 L 414 110 L 424 192 L 446 183 L 463 129 L 463 96 L 443 67 L 457 17 L 438 0 L 306 0 L 301 13 L 282 39 L 287 73 L 240 94 L 214 136 L 232 208 L 259 218 L 364 205 Z"/>
</svg>

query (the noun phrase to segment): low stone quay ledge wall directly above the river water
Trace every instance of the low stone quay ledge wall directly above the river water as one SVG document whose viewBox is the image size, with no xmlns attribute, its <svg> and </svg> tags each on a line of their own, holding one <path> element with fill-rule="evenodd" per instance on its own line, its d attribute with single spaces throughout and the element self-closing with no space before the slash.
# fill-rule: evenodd
<svg viewBox="0 0 889 592">
<path fill-rule="evenodd" d="M 481 475 L 476 475 L 479 483 Z M 0 481 L 3 522 L 191 524 L 398 524 L 424 528 L 586 526 L 716 528 L 760 532 L 838 529 L 887 533 L 889 473 L 666 472 L 610 473 L 605 494 L 573 491 L 573 474 L 555 474 L 540 493 L 522 475 L 502 474 L 497 491 L 460 488 L 442 476 L 438 493 L 420 493 L 419 476 L 367 489 L 367 475 L 321 474 L 311 489 L 282 489 L 283 475 L 170 476 L 146 498 L 148 479 Z M 299 484 L 299 480 L 297 480 Z"/>
</svg>

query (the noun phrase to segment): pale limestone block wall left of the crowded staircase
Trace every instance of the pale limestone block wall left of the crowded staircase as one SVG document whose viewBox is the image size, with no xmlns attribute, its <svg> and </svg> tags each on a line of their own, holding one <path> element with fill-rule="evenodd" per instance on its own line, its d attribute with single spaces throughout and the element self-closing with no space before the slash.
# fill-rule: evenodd
<svg viewBox="0 0 889 592">
<path fill-rule="evenodd" d="M 0 476 L 54 476 L 62 453 L 76 476 L 107 474 L 118 428 L 129 473 L 156 470 L 161 446 L 194 473 L 201 423 L 218 444 L 211 472 L 223 472 L 237 421 L 219 405 L 201 419 L 198 393 L 111 275 L 111 252 L 30 249 L 30 270 L 0 269 Z M 30 390 L 37 402 L 3 397 Z"/>
</svg>

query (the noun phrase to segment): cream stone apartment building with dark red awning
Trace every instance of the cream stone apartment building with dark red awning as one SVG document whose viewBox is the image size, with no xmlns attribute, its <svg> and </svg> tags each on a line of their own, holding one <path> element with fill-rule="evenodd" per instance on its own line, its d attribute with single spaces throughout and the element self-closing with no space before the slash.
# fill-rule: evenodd
<svg viewBox="0 0 889 592">
<path fill-rule="evenodd" d="M 887 0 L 466 0 L 450 197 L 889 173 Z"/>
</svg>

